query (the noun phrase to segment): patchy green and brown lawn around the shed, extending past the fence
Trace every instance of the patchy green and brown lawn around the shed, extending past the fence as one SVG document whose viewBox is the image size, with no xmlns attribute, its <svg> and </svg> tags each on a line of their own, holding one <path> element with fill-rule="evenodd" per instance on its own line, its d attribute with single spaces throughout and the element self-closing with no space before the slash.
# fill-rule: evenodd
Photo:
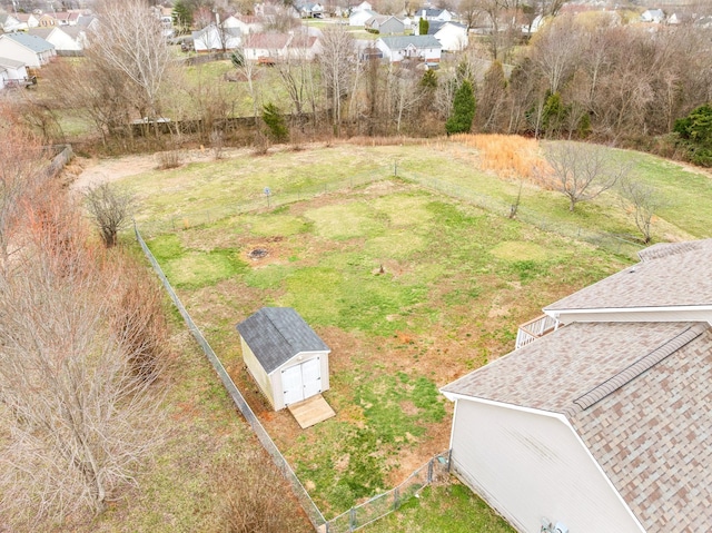
<svg viewBox="0 0 712 533">
<path fill-rule="evenodd" d="M 414 179 L 434 177 L 506 206 L 518 184 L 479 170 L 477 156 L 445 141 L 339 145 L 244 154 L 121 182 L 137 194 L 139 228 L 188 310 L 327 519 L 447 448 L 452 406 L 438 387 L 513 349 L 517 325 L 544 305 L 632 260 Z M 709 178 L 625 157 L 681 206 L 701 206 L 693 216 L 661 213 L 656 238 L 709 236 Z M 353 176 L 382 179 L 352 187 Z M 527 186 L 522 205 L 553 221 L 634 233 L 614 193 L 571 214 L 563 197 Z M 267 255 L 251 259 L 256 248 Z M 335 418 L 301 431 L 268 408 L 235 332 L 263 306 L 295 307 L 332 347 L 325 397 Z M 459 485 L 433 487 L 367 531 L 445 530 L 508 531 Z"/>
</svg>

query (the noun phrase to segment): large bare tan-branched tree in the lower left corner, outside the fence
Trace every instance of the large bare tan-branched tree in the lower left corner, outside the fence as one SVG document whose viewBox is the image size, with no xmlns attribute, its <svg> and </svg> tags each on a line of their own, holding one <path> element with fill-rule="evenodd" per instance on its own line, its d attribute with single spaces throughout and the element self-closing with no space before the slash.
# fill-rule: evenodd
<svg viewBox="0 0 712 533">
<path fill-rule="evenodd" d="M 28 246 L 0 276 L 0 505 L 22 531 L 101 512 L 159 437 L 158 388 L 108 319 L 120 276 L 72 251 Z"/>
</svg>

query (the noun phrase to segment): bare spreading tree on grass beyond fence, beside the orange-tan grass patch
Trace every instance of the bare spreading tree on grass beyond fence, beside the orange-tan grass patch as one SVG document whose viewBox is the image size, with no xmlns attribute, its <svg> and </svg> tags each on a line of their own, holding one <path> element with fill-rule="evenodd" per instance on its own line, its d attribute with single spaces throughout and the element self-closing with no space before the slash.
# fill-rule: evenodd
<svg viewBox="0 0 712 533">
<path fill-rule="evenodd" d="M 545 147 L 550 170 L 542 176 L 552 189 L 568 198 L 568 210 L 592 200 L 627 176 L 630 167 L 614 161 L 602 146 L 562 141 Z"/>
</svg>

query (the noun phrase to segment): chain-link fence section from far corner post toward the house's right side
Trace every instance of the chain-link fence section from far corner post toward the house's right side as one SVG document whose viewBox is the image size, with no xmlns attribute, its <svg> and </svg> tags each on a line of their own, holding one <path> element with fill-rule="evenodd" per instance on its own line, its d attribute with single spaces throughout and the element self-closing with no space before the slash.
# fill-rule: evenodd
<svg viewBox="0 0 712 533">
<path fill-rule="evenodd" d="M 506 201 L 492 196 L 483 195 L 469 187 L 463 187 L 461 185 L 451 184 L 448 181 L 434 178 L 432 176 L 425 176 L 423 174 L 404 168 L 403 165 L 398 167 L 398 177 L 406 181 L 416 182 L 428 189 L 437 190 L 447 196 L 465 200 L 477 207 L 481 207 L 487 211 L 501 215 L 503 217 L 510 217 L 514 210 L 513 201 Z M 525 206 L 516 207 L 516 219 L 537 228 L 563 235 L 576 240 L 583 240 L 590 243 L 596 247 L 604 248 L 617 255 L 626 256 L 633 259 L 637 259 L 637 251 L 643 249 L 644 245 L 633 240 L 630 235 L 616 235 L 606 231 L 596 231 L 593 229 L 581 228 L 573 224 L 566 224 L 560 220 L 548 220 L 542 216 L 541 213 L 527 209 Z"/>
</svg>

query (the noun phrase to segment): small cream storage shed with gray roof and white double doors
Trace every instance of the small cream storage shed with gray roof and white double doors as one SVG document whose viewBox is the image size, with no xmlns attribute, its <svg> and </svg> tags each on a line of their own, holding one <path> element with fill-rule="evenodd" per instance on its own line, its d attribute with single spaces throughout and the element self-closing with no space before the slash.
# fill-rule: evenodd
<svg viewBox="0 0 712 533">
<path fill-rule="evenodd" d="M 329 388 L 329 347 L 291 307 L 263 307 L 237 325 L 243 359 L 275 411 Z"/>
</svg>

